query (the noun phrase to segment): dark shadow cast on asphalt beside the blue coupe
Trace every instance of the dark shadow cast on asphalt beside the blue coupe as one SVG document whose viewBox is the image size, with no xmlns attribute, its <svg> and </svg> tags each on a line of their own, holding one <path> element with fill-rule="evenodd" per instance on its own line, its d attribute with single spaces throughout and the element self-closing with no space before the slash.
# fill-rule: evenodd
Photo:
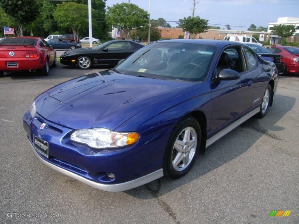
<svg viewBox="0 0 299 224">
<path fill-rule="evenodd" d="M 146 185 L 124 192 L 138 199 L 157 198 L 236 159 L 250 149 L 263 135 L 283 141 L 275 134 L 275 131 L 281 131 L 285 128 L 277 126 L 276 123 L 294 107 L 295 102 L 296 98 L 276 94 L 273 106 L 263 119 L 258 119 L 255 116 L 251 117 L 210 145 L 206 149 L 205 156 L 199 155 L 191 170 L 184 177 L 175 180 L 161 177 Z M 150 194 L 145 194 L 145 189 Z"/>
</svg>

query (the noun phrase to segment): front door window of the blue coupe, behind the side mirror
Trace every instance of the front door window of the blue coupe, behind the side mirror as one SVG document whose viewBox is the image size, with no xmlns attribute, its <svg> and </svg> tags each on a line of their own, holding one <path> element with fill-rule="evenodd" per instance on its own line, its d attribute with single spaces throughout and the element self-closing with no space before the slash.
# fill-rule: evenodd
<svg viewBox="0 0 299 224">
<path fill-rule="evenodd" d="M 245 70 L 244 68 L 241 49 L 239 47 L 230 47 L 222 52 L 216 66 L 216 73 L 219 73 L 223 69 L 243 72 Z"/>
</svg>

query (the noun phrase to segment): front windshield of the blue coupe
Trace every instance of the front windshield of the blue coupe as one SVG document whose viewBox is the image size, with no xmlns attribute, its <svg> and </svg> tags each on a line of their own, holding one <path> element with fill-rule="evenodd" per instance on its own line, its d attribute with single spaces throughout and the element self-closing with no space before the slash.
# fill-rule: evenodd
<svg viewBox="0 0 299 224">
<path fill-rule="evenodd" d="M 141 48 L 116 68 L 132 76 L 204 81 L 216 50 L 204 44 L 157 42 Z"/>
</svg>

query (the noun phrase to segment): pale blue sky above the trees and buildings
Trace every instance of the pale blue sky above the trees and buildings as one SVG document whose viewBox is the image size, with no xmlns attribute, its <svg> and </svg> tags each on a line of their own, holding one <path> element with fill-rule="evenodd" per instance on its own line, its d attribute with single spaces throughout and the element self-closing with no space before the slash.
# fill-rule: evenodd
<svg viewBox="0 0 299 224">
<path fill-rule="evenodd" d="M 124 0 L 128 2 L 129 0 Z M 121 3 L 121 0 L 107 0 L 106 6 Z M 267 27 L 277 22 L 278 17 L 299 17 L 299 0 L 196 0 L 194 16 L 208 19 L 209 25 L 225 27 L 230 24 L 232 30 L 247 30 L 250 24 Z M 130 0 L 148 11 L 149 0 Z M 193 0 L 151 0 L 151 19 L 164 18 L 166 21 L 178 21 L 192 16 Z M 172 27 L 177 24 L 168 22 Z"/>
</svg>

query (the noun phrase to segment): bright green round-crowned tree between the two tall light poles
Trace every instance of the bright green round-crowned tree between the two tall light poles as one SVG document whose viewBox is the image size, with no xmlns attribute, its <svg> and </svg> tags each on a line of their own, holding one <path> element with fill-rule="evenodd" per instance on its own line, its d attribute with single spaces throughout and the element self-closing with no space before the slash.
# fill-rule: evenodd
<svg viewBox="0 0 299 224">
<path fill-rule="evenodd" d="M 123 30 L 126 39 L 131 30 L 145 27 L 149 20 L 148 13 L 135 4 L 123 2 L 107 7 L 107 9 L 107 22 L 117 27 L 118 30 Z"/>
</svg>

